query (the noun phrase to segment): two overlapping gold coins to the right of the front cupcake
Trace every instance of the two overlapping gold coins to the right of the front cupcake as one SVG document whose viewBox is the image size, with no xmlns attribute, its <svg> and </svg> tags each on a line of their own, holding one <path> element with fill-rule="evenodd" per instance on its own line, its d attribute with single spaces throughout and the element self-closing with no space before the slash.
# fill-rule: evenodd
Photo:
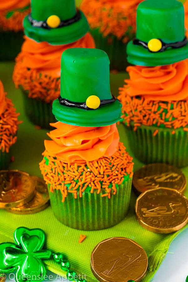
<svg viewBox="0 0 188 282">
<path fill-rule="evenodd" d="M 156 233 L 180 230 L 188 222 L 188 199 L 181 193 L 187 181 L 181 170 L 166 164 L 145 165 L 134 173 L 133 188 L 140 194 L 138 222 Z"/>
</svg>

